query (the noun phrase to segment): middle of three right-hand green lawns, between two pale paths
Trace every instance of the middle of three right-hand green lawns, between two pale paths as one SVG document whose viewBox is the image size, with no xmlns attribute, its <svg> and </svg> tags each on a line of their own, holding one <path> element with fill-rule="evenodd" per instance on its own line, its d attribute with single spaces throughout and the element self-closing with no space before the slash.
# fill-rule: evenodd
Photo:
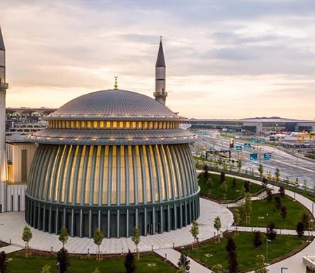
<svg viewBox="0 0 315 273">
<path fill-rule="evenodd" d="M 283 220 L 280 210 L 276 209 L 276 202 L 272 195 L 272 200 L 259 200 L 252 203 L 251 223 L 247 226 L 251 227 L 267 227 L 270 222 L 276 224 L 276 228 L 285 228 L 295 230 L 297 223 L 301 220 L 304 213 L 310 214 L 309 211 L 299 202 L 293 201 L 290 197 L 284 195 L 281 197 L 282 206 L 286 206 L 287 216 Z M 240 225 L 246 223 L 241 222 Z"/>
</svg>

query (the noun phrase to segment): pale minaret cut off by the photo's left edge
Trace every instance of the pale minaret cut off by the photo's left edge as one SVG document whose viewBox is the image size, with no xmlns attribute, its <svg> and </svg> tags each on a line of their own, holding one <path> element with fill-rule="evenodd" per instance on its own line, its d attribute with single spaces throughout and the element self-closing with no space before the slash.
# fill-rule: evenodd
<svg viewBox="0 0 315 273">
<path fill-rule="evenodd" d="M 7 179 L 6 162 L 6 48 L 4 47 L 3 37 L 0 27 L 0 182 Z M 3 199 L 0 195 L 0 204 Z"/>
</svg>

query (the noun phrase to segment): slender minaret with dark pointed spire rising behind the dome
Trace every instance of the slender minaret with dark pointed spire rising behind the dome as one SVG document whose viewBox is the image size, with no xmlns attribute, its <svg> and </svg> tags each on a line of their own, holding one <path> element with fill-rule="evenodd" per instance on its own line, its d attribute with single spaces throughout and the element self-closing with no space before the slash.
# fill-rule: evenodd
<svg viewBox="0 0 315 273">
<path fill-rule="evenodd" d="M 160 48 L 158 52 L 158 58 L 155 64 L 155 93 L 153 94 L 155 100 L 165 105 L 167 92 L 165 90 L 165 59 L 162 45 L 162 36 L 160 37 Z"/>
</svg>

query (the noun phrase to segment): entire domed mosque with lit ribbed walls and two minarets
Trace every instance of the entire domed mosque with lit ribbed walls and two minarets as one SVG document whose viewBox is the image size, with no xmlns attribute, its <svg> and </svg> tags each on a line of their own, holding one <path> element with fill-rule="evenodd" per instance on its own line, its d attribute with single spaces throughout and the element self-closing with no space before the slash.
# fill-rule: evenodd
<svg viewBox="0 0 315 273">
<path fill-rule="evenodd" d="M 181 118 L 165 106 L 165 72 L 160 41 L 155 99 L 120 90 L 116 81 L 113 90 L 77 97 L 43 118 L 48 127 L 26 140 L 31 165 L 20 190 L 6 179 L 8 85 L 0 75 L 1 211 L 16 210 L 19 202 L 32 227 L 58 234 L 65 226 L 73 237 L 92 237 L 96 228 L 108 238 L 130 237 L 136 226 L 141 235 L 155 235 L 196 220 L 195 136 L 180 130 Z M 5 75 L 5 63 L 0 73 Z"/>
</svg>

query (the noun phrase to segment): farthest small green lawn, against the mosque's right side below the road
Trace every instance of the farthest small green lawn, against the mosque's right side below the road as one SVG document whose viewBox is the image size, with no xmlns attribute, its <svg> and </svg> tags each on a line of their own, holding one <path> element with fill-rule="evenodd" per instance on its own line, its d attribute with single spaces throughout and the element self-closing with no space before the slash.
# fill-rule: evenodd
<svg viewBox="0 0 315 273">
<path fill-rule="evenodd" d="M 209 176 L 212 179 L 212 187 L 210 188 L 207 181 L 200 176 L 199 177 L 199 186 L 200 186 L 200 193 L 202 196 L 210 197 L 214 200 L 223 200 L 222 195 L 222 189 L 221 189 L 221 183 L 220 183 L 220 175 L 218 174 L 209 174 Z M 241 187 L 244 187 L 244 181 L 241 179 L 236 180 L 236 187 L 232 187 L 232 177 L 225 176 L 225 181 L 228 185 L 228 192 L 226 195 L 226 200 L 236 200 L 240 197 L 241 193 Z M 260 190 L 262 190 L 262 186 L 250 183 L 249 191 L 250 193 L 258 193 Z"/>
</svg>

